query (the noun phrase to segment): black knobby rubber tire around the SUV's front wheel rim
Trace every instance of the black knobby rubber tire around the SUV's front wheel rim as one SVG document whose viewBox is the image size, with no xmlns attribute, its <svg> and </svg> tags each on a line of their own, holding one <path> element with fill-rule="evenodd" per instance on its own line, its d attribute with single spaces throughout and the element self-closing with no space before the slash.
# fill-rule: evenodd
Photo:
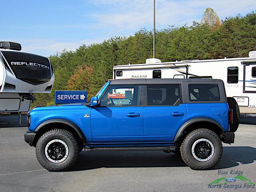
<svg viewBox="0 0 256 192">
<path fill-rule="evenodd" d="M 56 139 L 64 141 L 67 144 L 69 150 L 66 159 L 60 163 L 54 163 L 48 160 L 44 151 L 48 142 Z M 38 159 L 38 162 L 45 169 L 53 172 L 70 169 L 78 159 L 79 151 L 80 148 L 74 135 L 62 129 L 49 130 L 39 138 L 36 144 L 36 158 Z"/>
</svg>

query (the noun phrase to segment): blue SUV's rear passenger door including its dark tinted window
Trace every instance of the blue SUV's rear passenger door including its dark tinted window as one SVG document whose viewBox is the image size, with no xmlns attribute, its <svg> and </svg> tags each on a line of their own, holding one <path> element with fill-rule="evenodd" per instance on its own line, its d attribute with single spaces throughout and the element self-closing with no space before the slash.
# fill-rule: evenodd
<svg viewBox="0 0 256 192">
<path fill-rule="evenodd" d="M 144 108 L 144 142 L 172 142 L 187 120 L 180 84 L 148 84 Z"/>
</svg>

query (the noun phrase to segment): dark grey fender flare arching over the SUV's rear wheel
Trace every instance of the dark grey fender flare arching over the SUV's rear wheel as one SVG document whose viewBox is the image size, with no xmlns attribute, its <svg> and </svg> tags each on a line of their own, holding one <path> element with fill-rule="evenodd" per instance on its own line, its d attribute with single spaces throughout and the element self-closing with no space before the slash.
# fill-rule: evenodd
<svg viewBox="0 0 256 192">
<path fill-rule="evenodd" d="M 176 141 L 178 141 L 180 139 L 180 136 L 182 135 L 183 131 L 188 126 L 190 126 L 193 123 L 200 122 L 200 121 L 206 121 L 206 122 L 214 123 L 216 126 L 218 126 L 222 130 L 222 132 L 224 132 L 224 129 L 222 128 L 222 126 L 218 122 L 213 120 L 213 119 L 205 118 L 205 117 L 193 118 L 193 119 L 190 119 L 190 120 L 186 121 L 184 124 L 182 124 L 182 126 L 180 126 L 180 128 L 177 131 L 176 136 L 174 138 L 174 142 L 176 142 Z"/>
</svg>

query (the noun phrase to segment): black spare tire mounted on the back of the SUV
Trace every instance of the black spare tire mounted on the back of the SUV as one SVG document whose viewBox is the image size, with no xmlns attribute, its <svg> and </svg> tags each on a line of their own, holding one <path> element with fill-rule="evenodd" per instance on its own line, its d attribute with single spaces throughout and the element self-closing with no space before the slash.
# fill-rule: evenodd
<svg viewBox="0 0 256 192">
<path fill-rule="evenodd" d="M 228 97 L 228 107 L 233 110 L 233 123 L 230 124 L 230 131 L 236 132 L 240 123 L 240 110 L 236 100 L 232 97 Z"/>
</svg>

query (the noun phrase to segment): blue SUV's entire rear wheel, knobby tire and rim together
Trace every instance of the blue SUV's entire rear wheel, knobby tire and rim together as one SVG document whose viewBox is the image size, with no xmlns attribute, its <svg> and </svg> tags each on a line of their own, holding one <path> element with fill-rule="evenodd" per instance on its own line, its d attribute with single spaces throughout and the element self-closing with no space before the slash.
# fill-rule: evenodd
<svg viewBox="0 0 256 192">
<path fill-rule="evenodd" d="M 220 161 L 222 151 L 219 136 L 208 129 L 190 132 L 180 146 L 182 160 L 194 170 L 214 167 Z"/>
</svg>

